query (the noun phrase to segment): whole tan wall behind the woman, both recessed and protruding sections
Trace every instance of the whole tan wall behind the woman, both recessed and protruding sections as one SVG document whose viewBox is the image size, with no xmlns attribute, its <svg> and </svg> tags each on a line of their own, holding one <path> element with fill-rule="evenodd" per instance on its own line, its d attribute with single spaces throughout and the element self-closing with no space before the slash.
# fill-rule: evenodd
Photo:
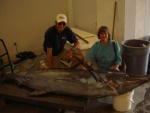
<svg viewBox="0 0 150 113">
<path fill-rule="evenodd" d="M 114 39 L 124 39 L 125 0 L 117 0 Z M 100 26 L 108 26 L 112 34 L 115 0 L 74 0 L 74 27 L 97 34 Z"/>
</svg>

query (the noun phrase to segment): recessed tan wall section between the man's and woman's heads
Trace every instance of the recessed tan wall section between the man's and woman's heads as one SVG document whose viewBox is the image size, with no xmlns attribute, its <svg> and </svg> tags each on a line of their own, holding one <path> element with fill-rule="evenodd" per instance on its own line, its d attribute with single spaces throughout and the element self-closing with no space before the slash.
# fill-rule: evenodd
<svg viewBox="0 0 150 113">
<path fill-rule="evenodd" d="M 73 0 L 74 27 L 97 32 L 97 0 Z"/>
</svg>

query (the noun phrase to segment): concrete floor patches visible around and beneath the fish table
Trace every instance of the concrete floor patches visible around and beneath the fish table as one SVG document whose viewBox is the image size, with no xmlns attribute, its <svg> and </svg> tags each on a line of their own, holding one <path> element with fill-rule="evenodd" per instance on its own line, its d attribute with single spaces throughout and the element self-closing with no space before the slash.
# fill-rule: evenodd
<svg viewBox="0 0 150 113">
<path fill-rule="evenodd" d="M 35 70 L 40 69 L 40 61 L 45 61 L 45 55 L 37 57 L 32 60 L 28 60 L 23 64 L 15 67 L 15 73 L 20 72 L 22 70 Z M 68 68 L 64 64 L 60 63 L 59 60 L 56 61 L 58 67 Z M 79 66 L 80 67 L 80 66 Z M 7 73 L 9 73 L 9 69 L 6 69 Z M 98 102 L 104 102 L 108 104 L 109 109 L 107 107 L 95 107 L 95 110 L 92 112 L 86 111 L 86 113 L 120 113 L 113 109 L 113 97 L 106 97 L 102 99 L 98 99 Z M 125 113 L 150 113 L 150 83 L 146 83 L 143 86 L 140 86 L 134 90 L 133 101 L 131 105 L 131 109 Z M 94 104 L 93 104 L 94 105 Z M 111 106 L 111 107 L 110 107 Z M 25 103 L 18 102 L 5 102 L 0 99 L 0 113 L 58 113 L 57 109 L 54 108 L 46 108 L 36 105 L 29 105 Z M 67 110 L 65 113 L 75 113 L 75 111 Z"/>
</svg>

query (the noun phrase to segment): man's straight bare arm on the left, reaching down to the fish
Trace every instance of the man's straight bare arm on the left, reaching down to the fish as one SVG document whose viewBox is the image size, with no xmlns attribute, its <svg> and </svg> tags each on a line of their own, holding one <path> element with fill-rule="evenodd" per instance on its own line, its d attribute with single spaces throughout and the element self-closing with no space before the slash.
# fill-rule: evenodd
<svg viewBox="0 0 150 113">
<path fill-rule="evenodd" d="M 47 48 L 47 62 L 49 68 L 54 68 L 53 66 L 53 55 L 52 55 L 52 48 Z"/>
</svg>

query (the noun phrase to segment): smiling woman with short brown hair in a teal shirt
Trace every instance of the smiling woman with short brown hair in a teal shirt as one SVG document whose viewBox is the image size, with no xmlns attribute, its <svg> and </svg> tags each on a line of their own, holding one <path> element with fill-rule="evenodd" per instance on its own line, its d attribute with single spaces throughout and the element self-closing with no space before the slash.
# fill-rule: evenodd
<svg viewBox="0 0 150 113">
<path fill-rule="evenodd" d="M 110 38 L 109 30 L 106 26 L 101 26 L 97 34 L 100 41 L 96 42 L 87 55 L 87 64 L 96 62 L 100 69 L 119 70 L 121 64 L 121 51 L 119 44 L 115 42 L 116 54 L 114 52 L 114 41 Z M 85 67 L 83 70 L 87 70 Z"/>
</svg>

